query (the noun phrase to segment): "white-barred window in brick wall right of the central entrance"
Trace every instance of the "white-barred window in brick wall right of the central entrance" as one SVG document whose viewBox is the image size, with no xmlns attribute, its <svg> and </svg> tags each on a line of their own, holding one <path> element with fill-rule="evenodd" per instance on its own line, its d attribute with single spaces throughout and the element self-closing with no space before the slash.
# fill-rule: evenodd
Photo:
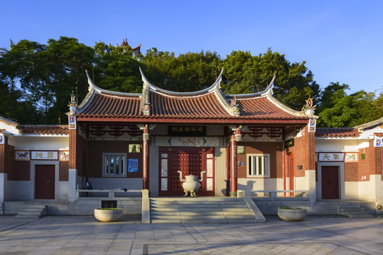
<svg viewBox="0 0 383 255">
<path fill-rule="evenodd" d="M 270 177 L 270 154 L 247 154 L 248 177 Z"/>
</svg>

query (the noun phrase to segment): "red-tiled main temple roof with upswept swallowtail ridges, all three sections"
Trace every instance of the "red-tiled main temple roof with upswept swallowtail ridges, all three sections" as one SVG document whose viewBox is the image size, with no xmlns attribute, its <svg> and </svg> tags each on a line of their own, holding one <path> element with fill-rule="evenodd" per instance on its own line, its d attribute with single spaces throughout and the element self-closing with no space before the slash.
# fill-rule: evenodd
<svg viewBox="0 0 383 255">
<path fill-rule="evenodd" d="M 223 72 L 223 70 L 222 70 Z M 142 94 L 124 94 L 100 89 L 92 83 L 90 93 L 75 113 L 77 117 L 90 118 L 146 118 L 146 119 L 203 119 L 227 120 L 302 120 L 316 116 L 293 111 L 276 101 L 271 95 L 273 81 L 268 89 L 258 94 L 237 95 L 236 103 L 230 105 L 233 96 L 225 96 L 220 91 L 218 77 L 215 84 L 195 92 L 173 92 L 153 86 L 142 74 L 144 88 Z M 149 114 L 144 108 L 150 106 Z M 238 107 L 239 113 L 234 111 Z"/>
</svg>

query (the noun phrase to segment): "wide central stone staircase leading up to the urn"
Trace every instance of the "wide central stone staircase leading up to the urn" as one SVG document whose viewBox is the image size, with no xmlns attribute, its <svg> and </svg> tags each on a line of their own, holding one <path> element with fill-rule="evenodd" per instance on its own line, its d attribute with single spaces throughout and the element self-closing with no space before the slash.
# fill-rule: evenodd
<svg viewBox="0 0 383 255">
<path fill-rule="evenodd" d="M 150 198 L 150 214 L 151 223 L 264 222 L 244 198 Z"/>
</svg>

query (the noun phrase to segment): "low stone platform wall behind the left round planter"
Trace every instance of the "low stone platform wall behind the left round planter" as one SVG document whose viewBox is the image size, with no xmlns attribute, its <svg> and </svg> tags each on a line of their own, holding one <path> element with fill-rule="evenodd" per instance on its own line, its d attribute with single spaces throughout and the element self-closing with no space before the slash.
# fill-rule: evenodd
<svg viewBox="0 0 383 255">
<path fill-rule="evenodd" d="M 79 198 L 75 202 L 75 215 L 93 215 L 97 208 L 101 208 L 101 201 L 107 198 Z M 124 210 L 124 215 L 141 215 L 141 198 L 118 198 L 117 207 Z"/>
</svg>

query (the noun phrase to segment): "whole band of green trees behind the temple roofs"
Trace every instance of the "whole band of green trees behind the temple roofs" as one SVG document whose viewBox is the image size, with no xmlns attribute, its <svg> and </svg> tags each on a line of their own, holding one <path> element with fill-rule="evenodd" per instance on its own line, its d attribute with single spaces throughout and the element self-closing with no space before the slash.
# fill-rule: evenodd
<svg viewBox="0 0 383 255">
<path fill-rule="evenodd" d="M 130 47 L 104 42 L 84 45 L 61 37 L 41 44 L 11 41 L 0 48 L 0 115 L 23 124 L 64 124 L 68 120 L 71 91 L 79 101 L 87 94 L 85 70 L 97 86 L 112 91 L 141 93 L 139 67 L 153 85 L 170 91 L 198 91 L 211 86 L 224 68 L 225 94 L 263 91 L 274 74 L 274 96 L 298 111 L 309 97 L 318 106 L 319 126 L 350 127 L 383 115 L 383 94 L 357 91 L 330 83 L 320 90 L 306 62 L 289 62 L 271 48 L 259 55 L 233 51 L 225 58 L 217 52 L 161 52 L 155 47 L 133 57 Z"/>
</svg>

